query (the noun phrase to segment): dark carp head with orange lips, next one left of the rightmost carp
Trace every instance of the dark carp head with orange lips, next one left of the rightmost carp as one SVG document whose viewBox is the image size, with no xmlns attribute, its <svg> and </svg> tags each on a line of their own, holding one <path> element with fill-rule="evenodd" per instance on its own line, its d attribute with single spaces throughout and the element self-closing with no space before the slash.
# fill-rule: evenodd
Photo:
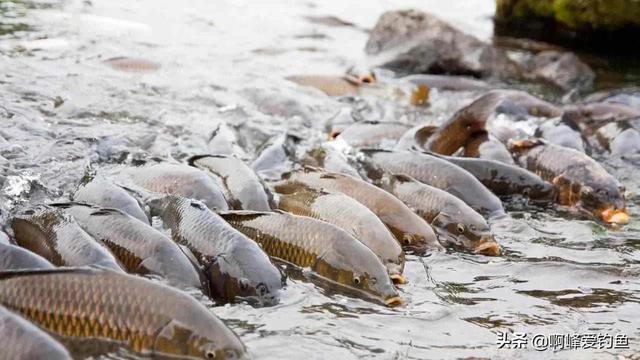
<svg viewBox="0 0 640 360">
<path fill-rule="evenodd" d="M 500 245 L 491 234 L 489 225 L 479 215 L 462 217 L 440 213 L 433 224 L 440 242 L 446 247 L 489 256 L 500 255 Z"/>
</svg>

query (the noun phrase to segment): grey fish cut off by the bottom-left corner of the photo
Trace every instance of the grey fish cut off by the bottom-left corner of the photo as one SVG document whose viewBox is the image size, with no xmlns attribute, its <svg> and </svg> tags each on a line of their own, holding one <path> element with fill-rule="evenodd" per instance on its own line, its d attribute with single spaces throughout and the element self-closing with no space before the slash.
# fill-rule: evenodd
<svg viewBox="0 0 640 360">
<path fill-rule="evenodd" d="M 62 344 L 36 325 L 0 306 L 0 349 L 11 360 L 71 360 Z"/>
</svg>

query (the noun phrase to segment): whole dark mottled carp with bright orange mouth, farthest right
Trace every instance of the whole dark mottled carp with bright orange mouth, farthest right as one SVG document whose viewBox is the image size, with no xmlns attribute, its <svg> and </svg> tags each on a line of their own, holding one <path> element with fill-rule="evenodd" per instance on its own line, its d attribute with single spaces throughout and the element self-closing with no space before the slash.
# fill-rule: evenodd
<svg viewBox="0 0 640 360">
<path fill-rule="evenodd" d="M 556 186 L 559 204 L 605 223 L 629 222 L 624 187 L 588 155 L 540 139 L 512 141 L 509 147 L 522 167 Z"/>
</svg>

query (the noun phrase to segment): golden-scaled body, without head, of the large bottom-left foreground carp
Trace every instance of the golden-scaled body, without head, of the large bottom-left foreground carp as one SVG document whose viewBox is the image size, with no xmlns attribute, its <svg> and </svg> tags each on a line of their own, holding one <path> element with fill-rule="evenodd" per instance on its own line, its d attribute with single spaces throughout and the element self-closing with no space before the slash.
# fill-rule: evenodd
<svg viewBox="0 0 640 360">
<path fill-rule="evenodd" d="M 148 280 L 85 268 L 0 274 L 0 285 L 1 304 L 65 339 L 108 338 L 151 353 L 157 334 L 176 320 L 197 331 L 194 339 L 217 337 L 211 341 L 244 352 L 206 308 Z"/>
</svg>

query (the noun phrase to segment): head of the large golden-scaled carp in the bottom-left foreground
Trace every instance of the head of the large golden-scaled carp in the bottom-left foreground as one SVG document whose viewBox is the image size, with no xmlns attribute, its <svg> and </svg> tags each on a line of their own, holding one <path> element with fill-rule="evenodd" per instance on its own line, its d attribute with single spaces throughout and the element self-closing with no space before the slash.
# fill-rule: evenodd
<svg viewBox="0 0 640 360">
<path fill-rule="evenodd" d="M 171 320 L 156 336 L 154 356 L 181 359 L 246 358 L 246 349 L 238 337 L 226 327 L 206 326 L 204 319 L 193 319 L 190 326 Z M 202 322 L 202 324 L 200 324 Z"/>
</svg>

